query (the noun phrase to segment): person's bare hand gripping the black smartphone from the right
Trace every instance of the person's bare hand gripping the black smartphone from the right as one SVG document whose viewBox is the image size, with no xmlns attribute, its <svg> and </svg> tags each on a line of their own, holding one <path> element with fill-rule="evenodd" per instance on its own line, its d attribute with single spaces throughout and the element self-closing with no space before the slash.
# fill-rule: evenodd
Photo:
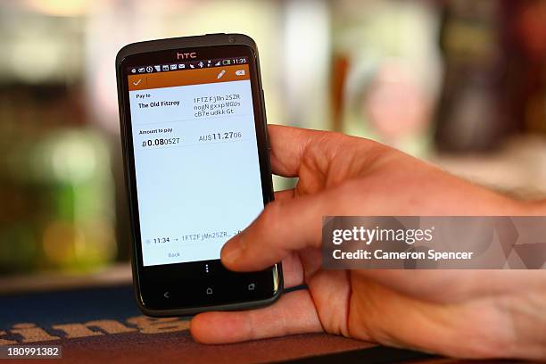
<svg viewBox="0 0 546 364">
<path fill-rule="evenodd" d="M 546 275 L 525 270 L 323 270 L 323 215 L 522 215 L 521 203 L 367 139 L 269 127 L 273 172 L 299 177 L 225 244 L 228 269 L 283 261 L 283 295 L 259 310 L 207 312 L 191 332 L 232 343 L 326 331 L 450 356 L 544 358 Z"/>
</svg>

